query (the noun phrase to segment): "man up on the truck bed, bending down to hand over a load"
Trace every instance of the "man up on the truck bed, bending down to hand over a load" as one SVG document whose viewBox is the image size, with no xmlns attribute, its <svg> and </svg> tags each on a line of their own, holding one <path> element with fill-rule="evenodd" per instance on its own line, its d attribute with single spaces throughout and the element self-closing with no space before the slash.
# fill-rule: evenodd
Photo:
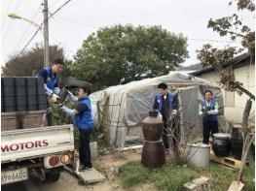
<svg viewBox="0 0 256 191">
<path fill-rule="evenodd" d="M 56 103 L 59 98 L 57 94 L 59 93 L 59 88 L 57 87 L 58 75 L 63 72 L 64 62 L 62 59 L 57 58 L 52 63 L 52 66 L 43 68 L 36 77 L 43 78 L 45 82 L 45 93 L 50 97 L 51 101 Z M 47 112 L 47 121 L 48 125 L 52 125 L 52 109 L 48 103 L 48 112 Z"/>
</svg>

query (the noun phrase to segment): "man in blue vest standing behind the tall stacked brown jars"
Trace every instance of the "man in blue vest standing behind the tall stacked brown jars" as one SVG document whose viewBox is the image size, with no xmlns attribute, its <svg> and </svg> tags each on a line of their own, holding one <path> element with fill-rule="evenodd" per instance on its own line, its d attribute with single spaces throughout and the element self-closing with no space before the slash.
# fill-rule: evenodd
<svg viewBox="0 0 256 191">
<path fill-rule="evenodd" d="M 164 82 L 158 85 L 159 94 L 155 97 L 153 110 L 159 111 L 163 116 L 164 131 L 163 131 L 163 143 L 165 146 L 165 154 L 168 154 L 169 143 L 167 139 L 167 124 L 170 118 L 171 111 L 174 104 L 174 95 L 168 92 L 167 84 Z"/>
</svg>

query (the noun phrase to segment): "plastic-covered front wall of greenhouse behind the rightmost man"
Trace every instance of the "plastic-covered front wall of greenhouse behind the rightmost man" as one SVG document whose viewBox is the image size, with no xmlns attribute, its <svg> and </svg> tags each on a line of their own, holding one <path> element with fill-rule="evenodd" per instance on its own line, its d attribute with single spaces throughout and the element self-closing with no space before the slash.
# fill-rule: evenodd
<svg viewBox="0 0 256 191">
<path fill-rule="evenodd" d="M 195 85 L 179 88 L 177 91 L 179 98 L 179 111 L 181 112 L 181 140 L 193 142 L 201 140 L 202 118 L 199 115 L 199 104 L 202 102 L 203 92 L 211 90 L 212 98 L 219 104 L 219 130 L 226 132 L 226 124 L 223 116 L 223 97 L 219 87 L 211 85 Z"/>
</svg>

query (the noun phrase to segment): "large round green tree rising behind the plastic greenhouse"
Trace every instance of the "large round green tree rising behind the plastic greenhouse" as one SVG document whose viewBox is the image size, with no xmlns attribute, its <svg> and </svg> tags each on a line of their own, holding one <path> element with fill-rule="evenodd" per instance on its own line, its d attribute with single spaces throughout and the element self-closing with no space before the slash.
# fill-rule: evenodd
<svg viewBox="0 0 256 191">
<path fill-rule="evenodd" d="M 73 76 L 97 87 L 167 74 L 188 57 L 187 39 L 161 26 L 115 25 L 92 33 L 77 51 Z"/>
</svg>

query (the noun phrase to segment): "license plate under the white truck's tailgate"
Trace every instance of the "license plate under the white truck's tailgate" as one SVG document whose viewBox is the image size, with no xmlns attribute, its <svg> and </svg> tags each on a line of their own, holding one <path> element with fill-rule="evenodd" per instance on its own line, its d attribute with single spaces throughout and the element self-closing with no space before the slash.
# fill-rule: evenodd
<svg viewBox="0 0 256 191">
<path fill-rule="evenodd" d="M 2 171 L 1 172 L 1 184 L 14 183 L 28 179 L 28 173 L 26 168 L 14 170 L 14 171 Z"/>
</svg>

